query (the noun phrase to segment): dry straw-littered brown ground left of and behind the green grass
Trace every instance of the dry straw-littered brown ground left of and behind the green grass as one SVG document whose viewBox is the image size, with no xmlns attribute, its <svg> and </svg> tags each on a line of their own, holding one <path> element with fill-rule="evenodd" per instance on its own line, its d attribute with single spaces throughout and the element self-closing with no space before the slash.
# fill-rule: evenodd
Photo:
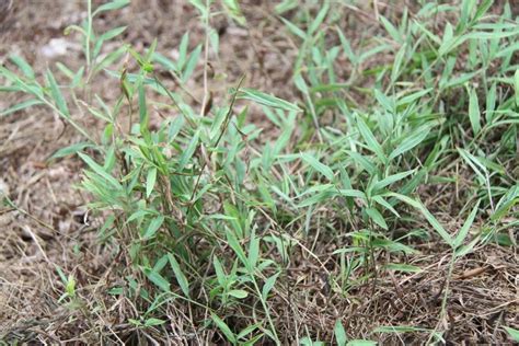
<svg viewBox="0 0 519 346">
<path fill-rule="evenodd" d="M 80 24 L 86 13 L 85 3 L 22 0 L 10 4 L 1 0 L 0 62 L 18 54 L 39 73 L 56 61 L 79 67 L 83 57 L 77 37 L 65 36 L 64 31 Z M 257 7 L 258 12 L 251 8 L 247 18 L 260 21 L 267 8 Z M 129 25 L 120 41 L 140 50 L 158 37 L 159 50 L 170 58 L 177 53 L 185 31 L 192 33 L 192 48 L 203 42 L 199 21 L 186 1 L 134 1 L 117 15 L 101 16 L 95 22 L 100 31 L 118 25 Z M 264 90 L 284 85 L 293 51 L 287 51 L 290 47 L 286 39 L 279 41 L 275 27 L 247 32 L 226 20 L 220 20 L 217 27 L 222 54 L 214 67 L 227 79 L 212 86 L 215 93 L 234 85 L 245 71 L 249 85 Z M 270 39 L 262 39 L 264 36 Z M 200 72 L 195 72 L 195 80 Z M 114 85 L 116 81 L 105 78 L 96 91 L 104 97 L 116 97 Z M 193 94 L 201 92 L 197 83 L 191 86 Z M 277 93 L 291 95 L 285 88 L 278 88 Z M 12 96 L 2 95 L 0 109 L 14 102 Z M 81 115 L 74 118 L 85 124 Z M 105 282 L 112 256 L 109 249 L 96 245 L 95 224 L 86 220 L 82 208 L 86 198 L 74 187 L 80 181 L 81 163 L 73 158 L 47 162 L 59 148 L 79 141 L 81 137 L 72 128 L 45 108 L 0 119 L 0 184 L 19 208 L 0 210 L 0 339 L 95 343 L 99 333 L 104 333 L 102 324 L 108 322 L 95 312 L 89 313 L 91 321 L 82 321 L 84 315 L 58 303 L 62 285 L 56 267 L 74 274 L 86 301 L 104 304 L 97 289 Z"/>
</svg>

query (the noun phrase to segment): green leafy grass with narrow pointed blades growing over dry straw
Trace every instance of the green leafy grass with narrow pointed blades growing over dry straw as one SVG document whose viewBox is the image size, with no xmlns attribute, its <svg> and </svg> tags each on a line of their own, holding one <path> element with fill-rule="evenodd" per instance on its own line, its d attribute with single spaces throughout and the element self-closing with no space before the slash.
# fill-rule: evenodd
<svg viewBox="0 0 519 346">
<path fill-rule="evenodd" d="M 127 264 L 118 268 L 124 284 L 108 292 L 134 302 L 128 322 L 138 331 L 165 332 L 173 307 L 189 315 L 193 332 L 217 331 L 215 342 L 296 337 L 310 345 L 324 334 L 355 345 L 360 342 L 350 338 L 369 335 L 345 330 L 341 319 L 333 331 L 284 335 L 278 310 L 290 307 L 295 262 L 320 264 L 328 289 L 348 299 L 385 269 L 422 270 L 382 263 L 382 253 L 394 260 L 416 254 L 415 244 L 440 241 L 452 252 L 450 278 L 457 261 L 476 247 L 517 245 L 510 234 L 519 227 L 519 25 L 510 5 L 494 13 L 492 1 L 427 2 L 412 15 L 403 8 L 396 20 L 379 15 L 376 35 L 354 43 L 342 26 L 348 5 L 308 5 L 288 18 L 293 7 L 284 1 L 276 10 L 299 49 L 291 81 L 300 99 L 280 100 L 240 79 L 211 104 L 206 67 L 204 101 L 194 106 L 186 82 L 218 47 L 210 7 L 192 1 L 207 39 L 188 51 L 184 35 L 176 61 L 158 53 L 157 41 L 146 51 L 122 46 L 101 56 L 104 42 L 126 28 L 95 33 L 93 19 L 127 3 L 93 10 L 89 1 L 83 25 L 70 27 L 82 37 L 85 65 L 58 66 L 68 83 L 50 70 L 42 83 L 23 58 L 12 57 L 12 69 L 0 68 L 1 90 L 30 97 L 0 115 L 43 104 L 84 136 L 53 159 L 78 153 L 85 163 L 81 187 L 92 196 L 89 207 L 105 217 L 100 241 L 114 244 Z M 223 1 L 223 11 L 246 25 L 237 1 Z M 132 72 L 113 69 L 125 56 Z M 169 88 L 158 71 L 181 88 Z M 102 74 L 120 88 L 113 104 L 92 92 Z M 72 103 L 103 130 L 82 127 Z M 261 145 L 262 129 L 247 120 L 244 103 L 262 107 L 276 138 Z M 155 129 L 152 109 L 166 115 Z M 440 184 L 455 186 L 446 198 L 457 195 L 461 224 L 447 227 L 431 211 L 424 191 Z M 319 250 L 328 242 L 333 269 Z M 371 332 L 427 333 L 436 342 L 445 333 L 440 323 Z"/>
</svg>

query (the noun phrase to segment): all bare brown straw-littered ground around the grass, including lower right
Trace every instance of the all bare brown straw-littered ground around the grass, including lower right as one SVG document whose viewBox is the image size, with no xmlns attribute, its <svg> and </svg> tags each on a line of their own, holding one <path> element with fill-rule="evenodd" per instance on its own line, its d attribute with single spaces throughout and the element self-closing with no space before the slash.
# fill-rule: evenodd
<svg viewBox="0 0 519 346">
<path fill-rule="evenodd" d="M 62 33 L 84 18 L 83 1 L 20 0 L 9 9 L 8 2 L 0 0 L 0 62 L 15 53 L 39 73 L 55 61 L 72 67 L 81 64 L 82 56 L 73 37 Z M 247 86 L 293 100 L 287 81 L 297 51 L 281 24 L 270 16 L 272 5 L 268 1 L 243 2 L 245 16 L 253 23 L 249 30 L 218 19 L 221 54 L 214 68 L 227 77 L 223 83 L 212 85 L 215 91 L 233 86 L 246 73 Z M 117 16 L 107 15 L 96 23 L 99 28 L 118 25 L 129 25 L 120 37 L 124 42 L 140 49 L 158 37 L 159 50 L 170 57 L 175 55 L 186 30 L 193 33 L 193 43 L 201 36 L 194 10 L 183 1 L 134 1 Z M 59 51 L 64 46 L 66 51 Z M 192 85 L 195 94 L 200 92 L 196 83 L 200 69 L 196 73 Z M 113 86 L 106 82 L 99 85 L 99 92 L 109 97 Z M 13 103 L 10 97 L 0 94 L 0 109 Z M 79 114 L 76 118 L 86 122 Z M 81 137 L 72 128 L 45 108 L 0 118 L 0 188 L 8 192 L 16 206 L 0 209 L 0 339 L 96 344 L 105 335 L 120 342 L 115 335 L 124 335 L 119 332 L 129 328 L 124 315 L 125 304 L 129 302 L 115 301 L 104 293 L 106 285 L 115 280 L 111 263 L 114 250 L 95 242 L 96 220 L 89 220 L 82 207 L 86 197 L 74 187 L 82 165 L 74 158 L 47 161 L 59 148 L 79 141 Z M 443 219 L 449 220 L 445 212 Z M 327 245 L 319 251 L 323 255 L 332 252 Z M 381 277 L 374 292 L 371 287 L 361 287 L 348 302 L 327 295 L 322 279 L 309 273 L 311 266 L 298 268 L 308 278 L 297 285 L 313 286 L 322 292 L 315 293 L 313 300 L 296 295 L 291 298 L 293 305 L 286 311 L 281 305 L 285 297 L 279 298 L 277 313 L 296 316 L 293 325 L 287 324 L 287 334 L 293 333 L 289 327 L 296 331 L 309 327 L 322 331 L 323 336 L 330 335 L 341 315 L 349 321 L 345 327 L 359 337 L 379 325 L 449 324 L 447 338 L 454 344 L 504 343 L 506 335 L 499 327 L 519 326 L 519 268 L 515 250 L 491 246 L 457 264 L 446 321 L 437 321 L 437 316 L 450 257 L 441 246 L 431 245 L 422 251 L 413 261 L 425 267 L 424 272 Z M 69 309 L 58 302 L 64 287 L 56 267 L 74 274 L 85 305 Z M 372 299 L 367 301 L 362 297 Z M 189 343 L 182 336 L 182 325 L 175 325 L 174 330 L 177 333 L 171 336 L 170 344 Z M 385 341 L 419 344 L 419 335 Z"/>
</svg>

